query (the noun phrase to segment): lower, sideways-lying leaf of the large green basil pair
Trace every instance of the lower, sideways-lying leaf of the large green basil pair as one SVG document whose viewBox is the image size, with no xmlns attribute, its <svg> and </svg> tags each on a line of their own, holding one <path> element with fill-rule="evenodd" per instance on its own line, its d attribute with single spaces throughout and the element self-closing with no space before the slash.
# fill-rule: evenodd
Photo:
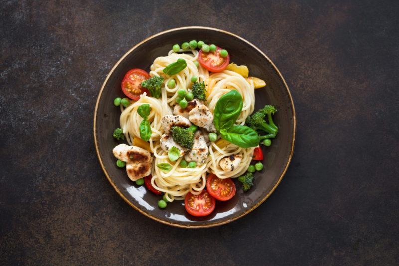
<svg viewBox="0 0 399 266">
<path fill-rule="evenodd" d="M 221 138 L 241 147 L 252 148 L 259 145 L 258 133 L 247 126 L 234 125 L 229 130 L 220 130 Z"/>
</svg>

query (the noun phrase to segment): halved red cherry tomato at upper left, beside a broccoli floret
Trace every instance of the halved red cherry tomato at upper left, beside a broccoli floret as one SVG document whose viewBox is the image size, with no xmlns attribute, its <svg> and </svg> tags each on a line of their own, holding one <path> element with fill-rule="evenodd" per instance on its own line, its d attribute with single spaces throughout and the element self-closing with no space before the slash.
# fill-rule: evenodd
<svg viewBox="0 0 399 266">
<path fill-rule="evenodd" d="M 149 79 L 150 75 L 147 73 L 147 71 L 140 69 L 140 68 L 133 68 L 126 72 L 125 77 L 122 80 L 122 91 L 123 93 L 129 97 L 132 100 L 139 100 L 140 99 L 140 94 L 143 92 L 147 92 L 147 95 L 149 94 L 148 90 L 143 88 L 141 86 L 141 83 Z"/>
</svg>

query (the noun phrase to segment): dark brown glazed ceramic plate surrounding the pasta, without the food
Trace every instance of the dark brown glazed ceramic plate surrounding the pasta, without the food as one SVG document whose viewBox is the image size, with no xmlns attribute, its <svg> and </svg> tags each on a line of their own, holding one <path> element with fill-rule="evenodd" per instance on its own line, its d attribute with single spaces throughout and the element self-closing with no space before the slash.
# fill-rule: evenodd
<svg viewBox="0 0 399 266">
<path fill-rule="evenodd" d="M 275 105 L 278 112 L 275 122 L 278 136 L 271 147 L 263 152 L 264 170 L 255 173 L 254 186 L 243 192 L 236 182 L 237 193 L 227 202 L 216 202 L 213 213 L 206 217 L 189 215 L 184 201 L 169 203 L 167 208 L 157 206 L 160 196 L 137 186 L 130 181 L 124 169 L 115 165 L 112 149 L 118 143 L 113 139 L 113 130 L 119 127 L 120 110 L 113 105 L 115 97 L 123 97 L 121 81 L 131 68 L 150 69 L 158 56 L 167 55 L 172 45 L 192 39 L 215 43 L 225 48 L 230 61 L 248 66 L 250 75 L 266 81 L 267 86 L 255 90 L 255 110 L 265 104 Z M 290 163 L 295 140 L 295 110 L 290 91 L 280 72 L 271 60 L 253 44 L 232 33 L 207 27 L 183 27 L 153 35 L 134 46 L 111 69 L 98 95 L 94 112 L 94 141 L 98 159 L 116 192 L 133 208 L 142 214 L 168 225 L 178 227 L 211 227 L 234 221 L 259 206 L 276 189 Z"/>
</svg>

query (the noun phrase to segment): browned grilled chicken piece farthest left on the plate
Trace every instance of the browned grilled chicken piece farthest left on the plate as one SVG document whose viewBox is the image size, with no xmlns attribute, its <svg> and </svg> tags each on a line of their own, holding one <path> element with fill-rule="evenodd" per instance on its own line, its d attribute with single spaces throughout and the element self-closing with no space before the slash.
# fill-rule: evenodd
<svg viewBox="0 0 399 266">
<path fill-rule="evenodd" d="M 120 144 L 112 150 L 112 153 L 117 159 L 126 162 L 126 172 L 130 180 L 136 181 L 151 173 L 153 159 L 147 150 Z"/>
</svg>

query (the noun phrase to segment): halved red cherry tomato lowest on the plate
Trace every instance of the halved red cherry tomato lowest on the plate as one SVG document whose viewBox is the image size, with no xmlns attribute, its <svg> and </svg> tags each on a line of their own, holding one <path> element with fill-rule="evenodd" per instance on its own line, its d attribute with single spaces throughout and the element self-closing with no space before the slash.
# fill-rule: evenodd
<svg viewBox="0 0 399 266">
<path fill-rule="evenodd" d="M 216 200 L 206 190 L 202 190 L 199 195 L 187 193 L 184 199 L 184 207 L 193 216 L 206 216 L 213 212 Z"/>
</svg>

